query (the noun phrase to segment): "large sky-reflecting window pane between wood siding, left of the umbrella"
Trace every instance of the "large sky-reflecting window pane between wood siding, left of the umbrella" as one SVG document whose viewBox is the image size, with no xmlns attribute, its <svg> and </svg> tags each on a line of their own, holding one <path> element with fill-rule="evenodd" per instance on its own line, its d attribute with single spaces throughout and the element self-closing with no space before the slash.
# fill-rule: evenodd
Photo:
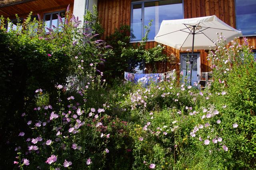
<svg viewBox="0 0 256 170">
<path fill-rule="evenodd" d="M 162 20 L 183 18 L 182 0 L 132 0 L 131 41 L 140 41 L 145 34 L 144 25 L 153 19 L 148 40 L 154 40 Z"/>
</svg>

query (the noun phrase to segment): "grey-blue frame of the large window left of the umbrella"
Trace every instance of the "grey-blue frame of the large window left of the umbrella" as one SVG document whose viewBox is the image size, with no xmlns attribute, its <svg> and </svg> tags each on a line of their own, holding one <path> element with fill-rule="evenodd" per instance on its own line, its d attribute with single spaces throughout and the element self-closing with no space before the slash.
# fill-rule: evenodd
<svg viewBox="0 0 256 170">
<path fill-rule="evenodd" d="M 142 35 L 141 35 L 141 38 L 144 37 L 145 33 L 144 33 L 144 4 L 145 2 L 154 2 L 154 1 L 159 1 L 159 0 L 140 0 L 140 1 L 135 1 L 135 2 L 131 2 L 131 15 L 130 15 L 130 26 L 132 25 L 133 23 L 133 5 L 137 5 L 137 4 L 141 4 L 141 16 L 142 16 Z M 182 0 L 182 19 L 184 19 L 184 0 Z M 131 35 L 131 32 L 130 32 L 130 35 Z M 130 39 L 130 43 L 137 43 L 137 42 L 141 42 L 142 39 L 140 40 L 131 40 Z M 148 40 L 148 41 L 154 41 L 153 40 Z"/>
</svg>

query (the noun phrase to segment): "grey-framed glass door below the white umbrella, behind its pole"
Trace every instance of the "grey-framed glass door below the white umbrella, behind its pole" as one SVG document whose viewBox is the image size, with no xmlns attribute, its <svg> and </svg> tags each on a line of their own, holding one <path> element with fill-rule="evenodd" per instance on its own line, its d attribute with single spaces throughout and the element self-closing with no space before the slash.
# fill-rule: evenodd
<svg viewBox="0 0 256 170">
<path fill-rule="evenodd" d="M 181 82 L 195 86 L 200 78 L 200 54 L 180 53 L 180 71 L 183 73 Z M 191 76 L 192 74 L 192 76 Z M 190 83 L 190 76 L 191 82 Z"/>
</svg>

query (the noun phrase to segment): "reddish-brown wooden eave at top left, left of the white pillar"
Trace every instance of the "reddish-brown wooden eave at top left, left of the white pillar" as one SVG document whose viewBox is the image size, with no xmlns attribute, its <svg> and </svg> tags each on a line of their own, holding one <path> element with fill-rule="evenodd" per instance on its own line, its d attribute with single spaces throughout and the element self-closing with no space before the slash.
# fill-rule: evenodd
<svg viewBox="0 0 256 170">
<path fill-rule="evenodd" d="M 18 14 L 20 18 L 26 18 L 32 11 L 33 15 L 40 14 L 43 17 L 48 12 L 66 10 L 68 4 L 70 4 L 70 11 L 72 13 L 74 0 L 33 0 L 22 4 L 2 7 L 0 8 L 0 16 L 15 19 L 15 14 Z"/>
</svg>

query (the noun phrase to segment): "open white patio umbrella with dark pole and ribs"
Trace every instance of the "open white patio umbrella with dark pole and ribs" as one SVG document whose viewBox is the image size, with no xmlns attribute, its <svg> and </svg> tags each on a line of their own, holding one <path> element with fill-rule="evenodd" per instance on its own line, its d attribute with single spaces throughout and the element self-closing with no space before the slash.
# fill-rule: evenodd
<svg viewBox="0 0 256 170">
<path fill-rule="evenodd" d="M 181 20 L 163 20 L 154 39 L 158 43 L 176 49 L 192 49 L 193 57 L 194 49 L 209 49 L 209 46 L 216 47 L 214 43 L 218 39 L 216 33 L 222 33 L 227 42 L 230 42 L 234 37 L 242 36 L 241 31 L 230 27 L 214 15 Z M 190 83 L 191 77 L 192 73 L 190 74 Z"/>
</svg>

